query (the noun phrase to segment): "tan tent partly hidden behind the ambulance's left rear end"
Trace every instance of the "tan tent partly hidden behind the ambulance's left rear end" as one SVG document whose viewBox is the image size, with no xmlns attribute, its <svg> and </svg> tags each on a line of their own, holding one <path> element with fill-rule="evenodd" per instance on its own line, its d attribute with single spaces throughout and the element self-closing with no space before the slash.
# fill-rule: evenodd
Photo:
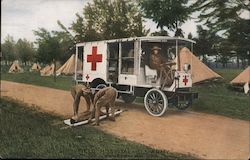
<svg viewBox="0 0 250 160">
<path fill-rule="evenodd" d="M 77 59 L 77 71 L 82 71 L 82 62 Z M 56 74 L 72 75 L 75 72 L 75 54 L 73 54 L 67 62 L 64 63 L 57 71 Z"/>
</svg>

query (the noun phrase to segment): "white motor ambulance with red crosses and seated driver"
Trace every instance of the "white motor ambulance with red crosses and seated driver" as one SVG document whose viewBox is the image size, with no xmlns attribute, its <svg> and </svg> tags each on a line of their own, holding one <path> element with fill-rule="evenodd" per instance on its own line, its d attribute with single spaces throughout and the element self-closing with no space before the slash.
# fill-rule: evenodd
<svg viewBox="0 0 250 160">
<path fill-rule="evenodd" d="M 78 43 L 76 58 L 82 57 L 82 76 L 76 83 L 89 83 L 92 90 L 106 86 L 132 103 L 144 98 L 152 116 L 163 115 L 169 107 L 186 109 L 198 94 L 191 91 L 191 64 L 181 66 L 180 48 L 193 48 L 193 40 L 176 37 L 135 37 Z M 77 60 L 76 60 L 77 62 Z"/>
</svg>

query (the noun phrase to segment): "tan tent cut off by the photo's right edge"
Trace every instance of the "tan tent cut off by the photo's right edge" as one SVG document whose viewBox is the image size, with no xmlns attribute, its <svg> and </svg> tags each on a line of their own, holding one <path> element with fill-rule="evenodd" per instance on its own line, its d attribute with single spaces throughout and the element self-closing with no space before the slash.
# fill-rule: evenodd
<svg viewBox="0 0 250 160">
<path fill-rule="evenodd" d="M 250 84 L 250 66 L 248 66 L 243 72 L 235 77 L 230 83 L 240 85 L 244 85 L 245 83 Z"/>
</svg>

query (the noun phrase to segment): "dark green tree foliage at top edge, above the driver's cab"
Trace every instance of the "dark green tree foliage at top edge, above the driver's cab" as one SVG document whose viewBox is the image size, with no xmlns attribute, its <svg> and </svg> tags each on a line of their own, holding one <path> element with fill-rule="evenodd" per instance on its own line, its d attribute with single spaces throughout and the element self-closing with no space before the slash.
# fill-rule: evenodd
<svg viewBox="0 0 250 160">
<path fill-rule="evenodd" d="M 157 23 L 157 28 L 167 27 L 176 36 L 183 36 L 180 26 L 191 13 L 188 0 L 140 0 L 140 6 L 145 17 Z"/>
</svg>

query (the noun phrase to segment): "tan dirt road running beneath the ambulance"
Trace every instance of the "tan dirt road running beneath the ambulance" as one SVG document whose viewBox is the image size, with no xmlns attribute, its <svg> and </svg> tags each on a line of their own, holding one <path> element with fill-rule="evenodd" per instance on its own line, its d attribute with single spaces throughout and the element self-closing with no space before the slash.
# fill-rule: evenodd
<svg viewBox="0 0 250 160">
<path fill-rule="evenodd" d="M 2 81 L 1 94 L 36 104 L 44 111 L 67 118 L 72 115 L 72 98 L 67 91 Z M 179 111 L 168 111 L 163 117 L 152 117 L 142 105 L 118 105 L 126 107 L 128 111 L 119 116 L 115 123 L 101 123 L 101 128 L 111 134 L 154 148 L 190 153 L 200 158 L 249 158 L 249 121 Z"/>
</svg>

